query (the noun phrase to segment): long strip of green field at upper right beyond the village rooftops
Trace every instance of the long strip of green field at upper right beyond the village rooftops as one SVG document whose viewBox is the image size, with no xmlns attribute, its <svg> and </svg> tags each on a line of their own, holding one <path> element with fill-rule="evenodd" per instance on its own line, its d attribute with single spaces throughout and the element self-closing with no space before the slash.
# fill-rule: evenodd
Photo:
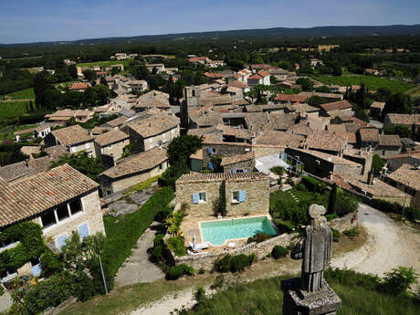
<svg viewBox="0 0 420 315">
<path fill-rule="evenodd" d="M 353 77 L 332 77 L 332 76 L 314 76 L 316 79 L 324 84 L 338 84 L 344 87 L 351 85 L 358 85 L 364 83 L 368 89 L 375 90 L 380 88 L 391 89 L 393 93 L 404 92 L 407 89 L 415 88 L 415 84 L 394 81 L 390 79 L 377 78 L 373 76 L 353 76 Z"/>
</svg>

